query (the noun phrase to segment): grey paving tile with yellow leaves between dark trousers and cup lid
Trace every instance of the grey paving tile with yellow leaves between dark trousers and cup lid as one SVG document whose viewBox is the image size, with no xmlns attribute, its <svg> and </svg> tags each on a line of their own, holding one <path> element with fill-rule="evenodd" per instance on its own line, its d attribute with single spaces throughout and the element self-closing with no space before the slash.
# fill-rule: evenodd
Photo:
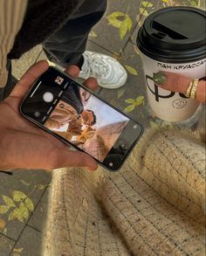
<svg viewBox="0 0 206 256">
<path fill-rule="evenodd" d="M 106 9 L 106 13 L 104 17 L 100 20 L 98 24 L 93 27 L 93 32 L 90 33 L 90 40 L 95 42 L 96 44 L 102 46 L 106 50 L 110 52 L 121 52 L 121 49 L 124 49 L 127 39 L 130 36 L 130 33 L 134 30 L 136 25 L 136 17 L 140 13 L 140 5 L 141 1 L 138 0 L 111 0 L 108 1 L 108 6 Z M 114 17 L 113 24 L 119 27 L 115 27 L 112 24 L 109 24 L 108 17 L 111 16 L 114 12 L 117 15 L 120 15 L 120 12 L 123 15 L 127 15 L 127 20 L 131 20 L 132 29 L 127 31 L 127 34 L 124 38 L 120 38 L 120 22 L 121 27 L 126 28 L 123 21 L 126 20 L 125 16 Z M 117 19 L 115 21 L 115 19 Z M 119 23 L 119 24 L 118 24 Z M 129 24 L 130 22 L 126 22 Z"/>
</svg>

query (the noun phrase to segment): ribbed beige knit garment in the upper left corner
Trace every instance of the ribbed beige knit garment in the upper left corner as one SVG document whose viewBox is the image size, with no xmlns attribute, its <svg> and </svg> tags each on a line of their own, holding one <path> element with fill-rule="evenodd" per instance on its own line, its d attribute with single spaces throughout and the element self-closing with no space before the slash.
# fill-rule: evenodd
<svg viewBox="0 0 206 256">
<path fill-rule="evenodd" d="M 0 0 L 0 88 L 7 81 L 7 54 L 20 30 L 27 0 Z"/>
</svg>

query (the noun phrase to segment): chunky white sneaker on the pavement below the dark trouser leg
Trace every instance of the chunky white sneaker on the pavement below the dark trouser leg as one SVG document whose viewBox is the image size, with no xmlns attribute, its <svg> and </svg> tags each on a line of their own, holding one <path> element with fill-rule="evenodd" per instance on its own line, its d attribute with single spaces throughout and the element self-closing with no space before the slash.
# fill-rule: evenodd
<svg viewBox="0 0 206 256">
<path fill-rule="evenodd" d="M 127 72 L 116 59 L 89 51 L 84 52 L 83 57 L 84 63 L 79 78 L 93 77 L 98 81 L 99 86 L 108 89 L 116 89 L 126 83 Z"/>
</svg>

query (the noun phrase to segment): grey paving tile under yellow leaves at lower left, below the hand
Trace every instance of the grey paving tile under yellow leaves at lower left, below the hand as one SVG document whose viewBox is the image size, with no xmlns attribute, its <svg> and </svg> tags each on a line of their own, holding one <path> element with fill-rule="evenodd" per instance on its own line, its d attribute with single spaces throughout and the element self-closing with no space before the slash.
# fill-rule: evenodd
<svg viewBox="0 0 206 256">
<path fill-rule="evenodd" d="M 0 205 L 10 205 L 8 211 L 0 214 L 0 218 L 5 222 L 4 230 L 0 232 L 4 232 L 10 239 L 17 240 L 31 216 L 31 210 L 28 212 L 25 207 L 21 208 L 20 211 L 16 211 L 18 219 L 10 219 L 14 210 L 20 205 L 20 202 L 16 202 L 16 206 L 11 205 L 13 204 L 11 199 L 14 200 L 14 193 L 17 195 L 23 192 L 31 199 L 35 208 L 43 195 L 45 185 L 50 183 L 50 180 L 50 174 L 42 170 L 15 170 L 12 176 L 0 173 Z M 30 206 L 27 207 L 30 208 Z M 24 219 L 21 221 L 22 217 L 19 216 L 24 216 Z"/>
</svg>

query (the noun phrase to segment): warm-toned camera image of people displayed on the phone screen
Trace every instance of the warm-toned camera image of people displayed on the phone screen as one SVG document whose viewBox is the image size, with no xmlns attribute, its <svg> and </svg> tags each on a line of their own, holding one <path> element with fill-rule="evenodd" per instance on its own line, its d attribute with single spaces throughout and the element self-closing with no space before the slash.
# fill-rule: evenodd
<svg viewBox="0 0 206 256">
<path fill-rule="evenodd" d="M 45 127 L 103 162 L 128 118 L 82 87 L 70 85 Z"/>
</svg>

